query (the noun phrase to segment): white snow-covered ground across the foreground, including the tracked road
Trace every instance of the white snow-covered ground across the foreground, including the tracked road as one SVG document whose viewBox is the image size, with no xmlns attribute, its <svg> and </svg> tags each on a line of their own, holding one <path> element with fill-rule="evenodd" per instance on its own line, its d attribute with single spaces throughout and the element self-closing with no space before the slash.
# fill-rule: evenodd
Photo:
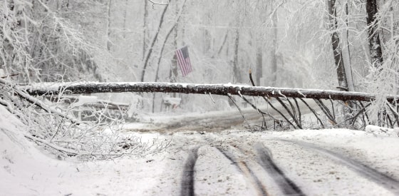
<svg viewBox="0 0 399 196">
<path fill-rule="evenodd" d="M 207 120 L 219 120 L 216 116 Z M 184 118 L 195 115 L 174 119 Z M 151 119 L 151 125 L 127 125 L 125 134 L 172 140 L 165 152 L 80 162 L 38 150 L 21 133 L 24 125 L 0 107 L 0 195 L 399 195 L 395 134 L 346 129 L 251 133 L 199 126 L 135 132 L 162 126 L 166 118 Z"/>
</svg>

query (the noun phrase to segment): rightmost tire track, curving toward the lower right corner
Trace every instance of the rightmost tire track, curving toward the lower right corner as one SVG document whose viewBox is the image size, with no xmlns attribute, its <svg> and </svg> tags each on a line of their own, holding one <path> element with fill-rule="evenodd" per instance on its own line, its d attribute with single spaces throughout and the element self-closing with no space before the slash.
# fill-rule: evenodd
<svg viewBox="0 0 399 196">
<path fill-rule="evenodd" d="M 375 170 L 372 167 L 368 167 L 367 165 L 357 160 L 353 160 L 344 155 L 333 152 L 331 150 L 321 148 L 311 143 L 306 143 L 302 141 L 284 140 L 284 139 L 278 139 L 278 140 L 281 140 L 286 143 L 294 143 L 296 145 L 314 150 L 318 153 L 321 153 L 322 155 L 326 155 L 328 158 L 331 158 L 332 160 L 335 160 L 338 163 L 346 165 L 349 169 L 353 170 L 354 172 L 357 172 L 363 177 L 366 177 L 368 180 L 371 180 L 376 184 L 385 187 L 387 190 L 390 190 L 395 195 L 399 195 L 399 180 L 396 180 L 393 177 L 385 175 L 382 172 L 378 172 L 378 170 Z"/>
</svg>

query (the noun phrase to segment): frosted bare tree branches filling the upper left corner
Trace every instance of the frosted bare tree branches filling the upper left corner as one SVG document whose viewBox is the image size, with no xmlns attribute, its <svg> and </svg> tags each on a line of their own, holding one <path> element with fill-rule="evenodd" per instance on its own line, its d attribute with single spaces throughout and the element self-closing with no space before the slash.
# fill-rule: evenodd
<svg viewBox="0 0 399 196">
<path fill-rule="evenodd" d="M 95 2 L 77 7 L 71 1 L 61 6 L 58 1 L 2 1 L 0 66 L 18 73 L 21 82 L 73 81 L 85 75 L 102 80 L 92 58 L 95 46 L 71 23 L 73 9 L 87 9 L 91 3 L 101 8 Z"/>
</svg>

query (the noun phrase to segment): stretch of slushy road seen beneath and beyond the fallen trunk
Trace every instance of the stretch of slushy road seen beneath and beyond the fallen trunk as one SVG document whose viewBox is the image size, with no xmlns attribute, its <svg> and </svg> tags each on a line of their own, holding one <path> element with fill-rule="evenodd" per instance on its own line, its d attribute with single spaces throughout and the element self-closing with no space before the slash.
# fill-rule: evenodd
<svg viewBox="0 0 399 196">
<path fill-rule="evenodd" d="M 306 101 L 312 108 L 318 110 L 318 106 L 316 105 L 314 100 Z M 288 113 L 286 113 L 284 108 L 282 108 L 279 103 L 273 104 L 278 110 L 281 111 L 281 113 L 289 118 Z M 315 124 L 314 127 L 318 127 L 318 125 L 316 125 L 317 122 L 314 118 L 314 115 L 311 114 L 311 110 L 309 110 L 309 108 L 301 102 L 299 103 L 299 108 L 301 110 L 301 114 L 303 115 L 302 117 L 311 119 L 313 121 L 312 123 Z M 276 110 L 274 110 L 270 106 L 259 106 L 259 109 L 265 113 L 269 113 L 276 119 L 284 119 L 281 115 L 279 115 Z M 242 115 L 244 115 L 245 120 Z M 236 108 L 232 108 L 232 110 L 213 111 L 207 113 L 170 113 L 168 115 L 150 114 L 142 116 L 141 118 L 142 123 L 133 123 L 130 125 L 126 125 L 125 129 L 141 132 L 156 131 L 158 133 L 175 133 L 187 130 L 219 132 L 221 130 L 229 129 L 248 129 L 247 122 L 252 126 L 252 129 L 259 129 L 259 126 L 262 125 L 263 120 L 266 120 L 269 128 L 272 128 L 274 126 L 273 118 L 269 117 L 269 115 L 264 115 L 263 118 L 261 113 L 258 113 L 257 110 L 254 110 L 254 108 L 249 105 L 247 106 L 247 108 L 242 108 L 242 114 L 239 113 L 239 110 L 237 110 Z M 312 125 L 310 126 L 313 127 Z M 284 128 L 288 127 L 288 123 L 284 122 Z"/>
</svg>

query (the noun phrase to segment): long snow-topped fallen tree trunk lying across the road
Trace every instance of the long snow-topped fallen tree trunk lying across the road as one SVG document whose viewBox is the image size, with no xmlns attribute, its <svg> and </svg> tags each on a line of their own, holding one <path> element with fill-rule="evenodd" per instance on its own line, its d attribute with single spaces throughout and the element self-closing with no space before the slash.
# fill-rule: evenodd
<svg viewBox="0 0 399 196">
<path fill-rule="evenodd" d="M 361 92 L 327 91 L 302 88 L 275 88 L 264 86 L 240 86 L 232 84 L 194 84 L 194 83 L 38 83 L 20 86 L 31 95 L 57 95 L 81 93 L 123 93 L 160 92 L 195 93 L 214 95 L 260 96 L 282 98 L 314 98 L 331 100 L 375 100 L 375 95 Z M 387 95 L 389 102 L 396 102 L 399 96 Z"/>
</svg>

